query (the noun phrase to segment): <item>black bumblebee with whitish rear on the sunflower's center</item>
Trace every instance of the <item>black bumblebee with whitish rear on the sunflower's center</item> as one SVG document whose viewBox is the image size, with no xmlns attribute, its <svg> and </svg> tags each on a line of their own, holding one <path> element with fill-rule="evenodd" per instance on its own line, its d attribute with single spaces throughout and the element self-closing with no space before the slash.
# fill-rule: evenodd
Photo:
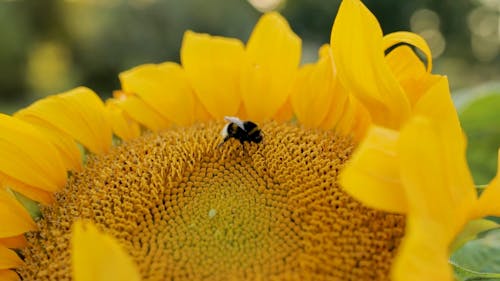
<svg viewBox="0 0 500 281">
<path fill-rule="evenodd" d="M 224 117 L 228 123 L 221 131 L 223 141 L 219 144 L 221 146 L 230 138 L 240 141 L 241 145 L 244 142 L 260 143 L 262 141 L 262 132 L 257 124 L 252 121 L 242 121 L 238 117 L 226 116 Z"/>
</svg>

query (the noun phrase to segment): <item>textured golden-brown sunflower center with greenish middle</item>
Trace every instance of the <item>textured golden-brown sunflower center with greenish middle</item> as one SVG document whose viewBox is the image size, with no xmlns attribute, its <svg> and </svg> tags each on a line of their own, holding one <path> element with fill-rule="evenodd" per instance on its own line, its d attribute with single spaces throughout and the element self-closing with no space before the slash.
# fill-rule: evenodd
<svg viewBox="0 0 500 281">
<path fill-rule="evenodd" d="M 404 218 L 338 186 L 348 139 L 266 123 L 260 144 L 217 147 L 221 126 L 149 134 L 92 157 L 42 209 L 19 274 L 71 279 L 70 228 L 83 218 L 120 241 L 143 280 L 388 279 Z"/>
</svg>

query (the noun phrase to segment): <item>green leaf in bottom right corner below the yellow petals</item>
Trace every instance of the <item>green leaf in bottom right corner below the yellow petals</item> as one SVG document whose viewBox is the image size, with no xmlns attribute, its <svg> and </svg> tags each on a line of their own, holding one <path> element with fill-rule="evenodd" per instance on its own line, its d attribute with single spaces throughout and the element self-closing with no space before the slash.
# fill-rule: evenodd
<svg viewBox="0 0 500 281">
<path fill-rule="evenodd" d="M 459 281 L 500 280 L 500 228 L 465 243 L 450 257 Z"/>
</svg>

